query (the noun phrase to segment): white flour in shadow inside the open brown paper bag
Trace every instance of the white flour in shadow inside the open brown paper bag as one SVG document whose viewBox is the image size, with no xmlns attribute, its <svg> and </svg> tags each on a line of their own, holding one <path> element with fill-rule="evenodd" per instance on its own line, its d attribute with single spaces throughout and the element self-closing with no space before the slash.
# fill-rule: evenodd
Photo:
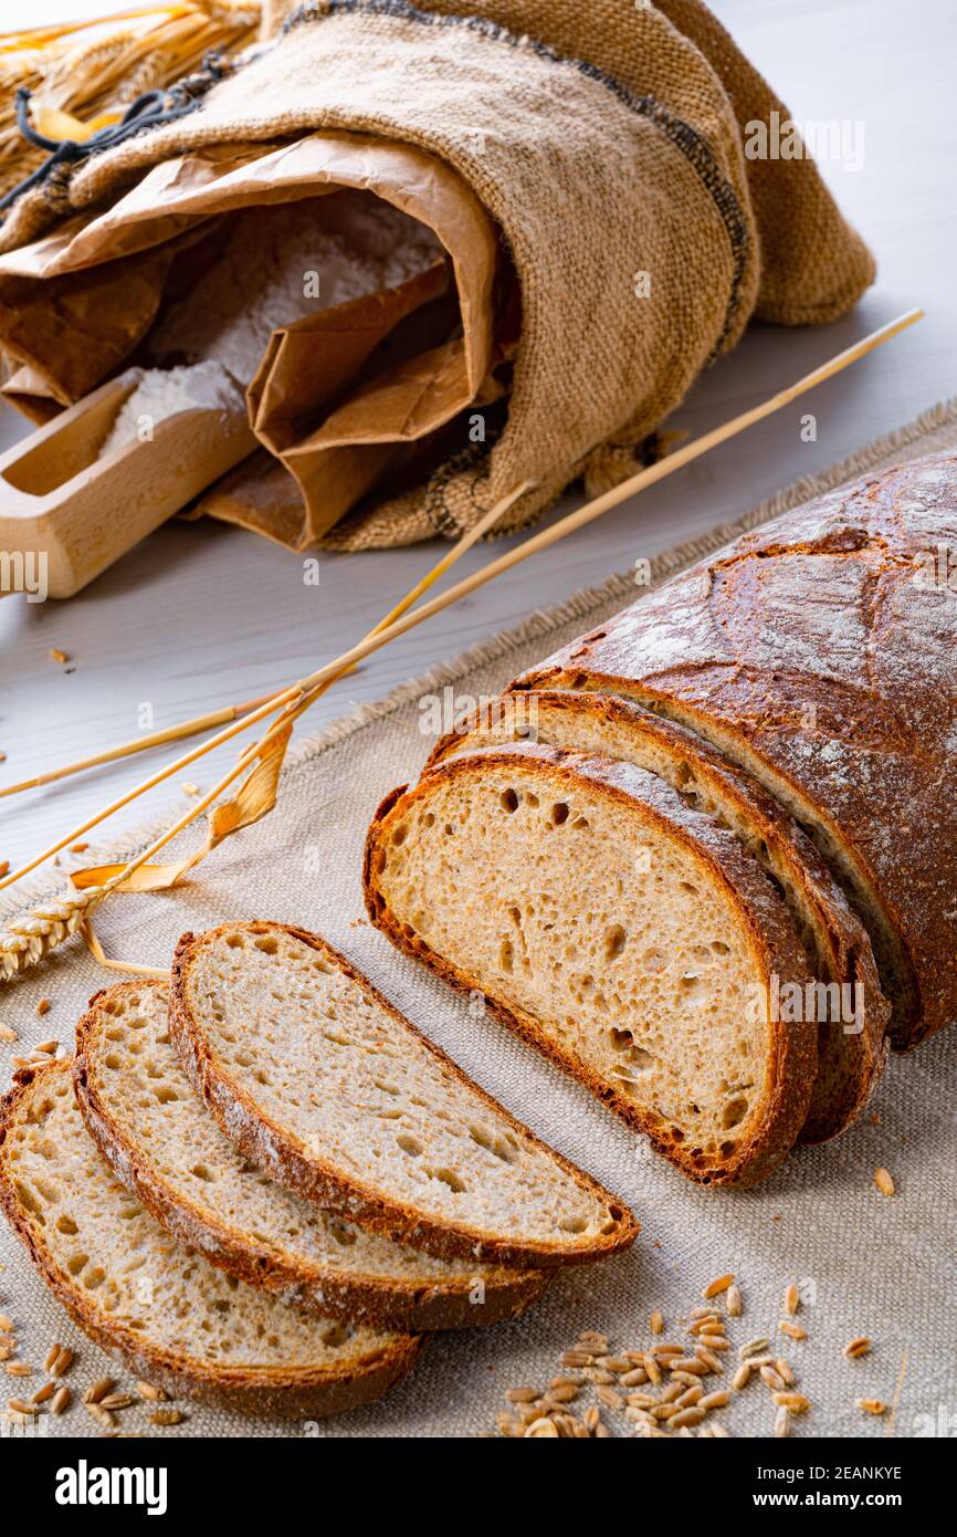
<svg viewBox="0 0 957 1537">
<path fill-rule="evenodd" d="M 370 192 L 244 209 L 220 261 L 154 327 L 151 352 L 215 358 L 246 386 L 273 330 L 396 287 L 441 249 L 430 229 Z"/>
</svg>

